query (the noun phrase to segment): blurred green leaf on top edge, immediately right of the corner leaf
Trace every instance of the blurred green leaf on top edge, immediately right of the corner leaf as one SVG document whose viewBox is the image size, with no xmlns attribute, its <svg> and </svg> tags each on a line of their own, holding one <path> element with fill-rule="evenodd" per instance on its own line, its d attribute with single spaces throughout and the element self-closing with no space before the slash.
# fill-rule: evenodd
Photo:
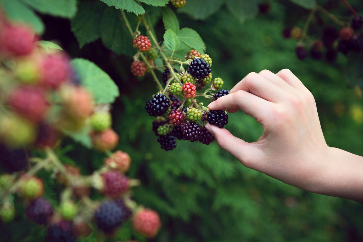
<svg viewBox="0 0 363 242">
<path fill-rule="evenodd" d="M 21 0 L 36 11 L 71 18 L 77 12 L 77 0 Z"/>
</svg>

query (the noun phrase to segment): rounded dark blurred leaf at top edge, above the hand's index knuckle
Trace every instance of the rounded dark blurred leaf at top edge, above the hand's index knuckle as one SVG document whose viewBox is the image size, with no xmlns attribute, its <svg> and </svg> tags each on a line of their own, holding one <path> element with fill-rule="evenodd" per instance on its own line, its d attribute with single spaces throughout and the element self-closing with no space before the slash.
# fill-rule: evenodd
<svg viewBox="0 0 363 242">
<path fill-rule="evenodd" d="M 227 0 L 227 8 L 241 22 L 251 19 L 258 13 L 258 3 L 250 0 Z"/>
</svg>

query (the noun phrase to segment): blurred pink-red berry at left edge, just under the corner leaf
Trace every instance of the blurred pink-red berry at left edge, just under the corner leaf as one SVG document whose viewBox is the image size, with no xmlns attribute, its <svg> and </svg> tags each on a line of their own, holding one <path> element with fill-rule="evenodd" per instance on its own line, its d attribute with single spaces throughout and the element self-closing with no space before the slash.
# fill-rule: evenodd
<svg viewBox="0 0 363 242">
<path fill-rule="evenodd" d="M 21 25 L 9 25 L 1 29 L 0 45 L 6 52 L 15 56 L 29 55 L 33 49 L 34 36 L 32 31 Z"/>
</svg>

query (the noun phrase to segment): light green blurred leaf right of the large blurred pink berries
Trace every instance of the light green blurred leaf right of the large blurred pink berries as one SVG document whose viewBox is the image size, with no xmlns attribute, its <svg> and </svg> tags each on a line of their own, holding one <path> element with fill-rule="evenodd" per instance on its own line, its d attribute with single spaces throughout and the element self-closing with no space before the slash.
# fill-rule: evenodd
<svg viewBox="0 0 363 242">
<path fill-rule="evenodd" d="M 72 65 L 79 74 L 82 85 L 93 94 L 96 104 L 115 101 L 119 95 L 118 87 L 106 72 L 93 62 L 81 58 L 73 59 Z"/>
</svg>

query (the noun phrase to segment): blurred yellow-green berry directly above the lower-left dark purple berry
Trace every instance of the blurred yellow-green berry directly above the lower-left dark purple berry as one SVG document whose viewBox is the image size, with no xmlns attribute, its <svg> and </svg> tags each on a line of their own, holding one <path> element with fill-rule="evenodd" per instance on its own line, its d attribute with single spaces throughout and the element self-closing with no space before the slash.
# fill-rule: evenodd
<svg viewBox="0 0 363 242">
<path fill-rule="evenodd" d="M 20 178 L 20 195 L 27 199 L 35 199 L 41 197 L 44 192 L 43 181 L 38 177 Z"/>
</svg>

